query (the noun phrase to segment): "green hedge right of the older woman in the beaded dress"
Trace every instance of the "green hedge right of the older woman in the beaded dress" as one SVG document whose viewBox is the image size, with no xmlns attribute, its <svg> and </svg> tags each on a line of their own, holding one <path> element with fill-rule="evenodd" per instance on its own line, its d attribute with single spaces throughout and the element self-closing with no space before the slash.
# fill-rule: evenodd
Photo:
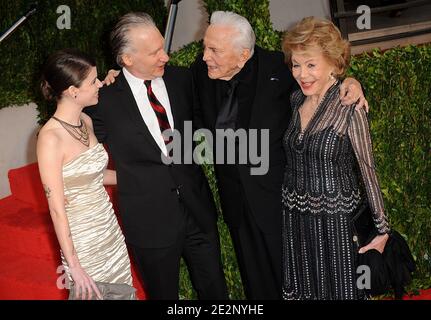
<svg viewBox="0 0 431 320">
<path fill-rule="evenodd" d="M 349 73 L 370 103 L 386 211 L 418 264 L 412 288 L 431 287 L 431 45 L 354 57 Z"/>
</svg>

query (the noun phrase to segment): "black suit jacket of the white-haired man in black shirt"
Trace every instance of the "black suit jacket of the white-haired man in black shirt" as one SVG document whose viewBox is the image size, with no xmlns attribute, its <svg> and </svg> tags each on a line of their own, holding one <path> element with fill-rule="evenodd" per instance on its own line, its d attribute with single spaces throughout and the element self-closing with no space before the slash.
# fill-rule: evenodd
<svg viewBox="0 0 431 320">
<path fill-rule="evenodd" d="M 290 119 L 289 95 L 295 81 L 281 52 L 255 47 L 254 54 L 257 59 L 253 75 L 257 77 L 256 92 L 249 110 L 239 108 L 237 128 L 269 129 L 269 170 L 265 175 L 251 175 L 250 163 L 216 164 L 215 170 L 225 221 L 231 227 L 238 227 L 243 210 L 248 207 L 260 229 L 273 234 L 280 233 L 281 185 L 286 164 L 282 139 Z M 208 77 L 202 56 L 196 59 L 192 72 L 201 108 L 196 112 L 195 123 L 214 133 L 221 102 L 220 80 Z M 248 123 L 244 118 L 249 119 Z"/>
</svg>

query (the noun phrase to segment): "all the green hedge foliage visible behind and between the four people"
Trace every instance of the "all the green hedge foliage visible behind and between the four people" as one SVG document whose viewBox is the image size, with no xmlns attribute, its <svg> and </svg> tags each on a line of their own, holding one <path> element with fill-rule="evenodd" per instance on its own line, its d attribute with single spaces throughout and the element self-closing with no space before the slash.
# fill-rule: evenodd
<svg viewBox="0 0 431 320">
<path fill-rule="evenodd" d="M 280 48 L 281 33 L 270 20 L 269 1 L 203 0 L 211 14 L 215 10 L 235 11 L 252 24 L 257 43 L 267 49 Z M 72 29 L 58 30 L 55 9 L 67 4 L 72 9 Z M 0 0 L 0 30 L 10 26 L 22 2 Z M 163 30 L 166 9 L 161 0 L 141 1 L 44 1 L 44 15 L 34 16 L 0 45 L 0 108 L 30 101 L 38 104 L 43 122 L 52 112 L 39 96 L 38 76 L 47 55 L 56 49 L 77 47 L 92 53 L 103 77 L 114 67 L 107 35 L 122 14 L 141 10 L 150 13 Z M 37 40 L 37 41 L 35 41 Z M 188 44 L 171 55 L 174 65 L 190 65 L 201 42 Z M 371 131 L 380 184 L 392 226 L 407 239 L 418 264 L 410 290 L 431 287 L 431 45 L 374 51 L 353 57 L 349 75 L 362 84 L 370 104 Z M 218 209 L 220 202 L 211 166 L 205 171 Z M 220 219 L 222 259 L 231 299 L 243 299 L 241 280 L 229 232 Z M 182 264 L 180 296 L 195 299 L 186 268 Z"/>
</svg>

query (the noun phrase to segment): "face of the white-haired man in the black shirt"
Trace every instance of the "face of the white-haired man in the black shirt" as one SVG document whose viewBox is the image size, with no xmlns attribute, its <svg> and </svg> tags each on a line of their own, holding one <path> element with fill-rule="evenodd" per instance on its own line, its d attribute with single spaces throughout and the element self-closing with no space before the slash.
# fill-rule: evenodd
<svg viewBox="0 0 431 320">
<path fill-rule="evenodd" d="M 249 49 L 234 45 L 236 32 L 232 27 L 210 25 L 204 37 L 204 57 L 211 79 L 230 80 L 250 58 Z"/>
</svg>

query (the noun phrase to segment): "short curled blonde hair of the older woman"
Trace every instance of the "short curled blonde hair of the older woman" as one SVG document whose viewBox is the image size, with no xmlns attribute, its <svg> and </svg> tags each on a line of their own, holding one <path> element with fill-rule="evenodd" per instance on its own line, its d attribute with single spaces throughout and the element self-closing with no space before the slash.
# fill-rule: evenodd
<svg viewBox="0 0 431 320">
<path fill-rule="evenodd" d="M 292 68 L 292 51 L 322 50 L 323 56 L 335 66 L 334 77 L 343 77 L 350 62 L 350 43 L 329 20 L 307 17 L 284 35 L 282 48 L 285 61 Z"/>
</svg>

